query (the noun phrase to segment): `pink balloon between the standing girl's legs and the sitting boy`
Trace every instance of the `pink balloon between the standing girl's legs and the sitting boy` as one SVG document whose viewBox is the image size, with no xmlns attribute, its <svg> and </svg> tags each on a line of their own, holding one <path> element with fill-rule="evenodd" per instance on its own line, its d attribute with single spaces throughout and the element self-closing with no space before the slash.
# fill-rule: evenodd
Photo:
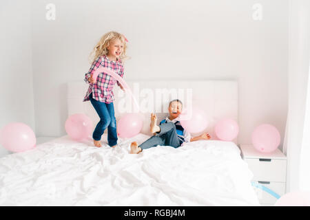
<svg viewBox="0 0 310 220">
<path fill-rule="evenodd" d="M 118 120 L 117 135 L 119 137 L 134 137 L 143 126 L 143 120 L 139 113 L 127 113 Z"/>
</svg>

